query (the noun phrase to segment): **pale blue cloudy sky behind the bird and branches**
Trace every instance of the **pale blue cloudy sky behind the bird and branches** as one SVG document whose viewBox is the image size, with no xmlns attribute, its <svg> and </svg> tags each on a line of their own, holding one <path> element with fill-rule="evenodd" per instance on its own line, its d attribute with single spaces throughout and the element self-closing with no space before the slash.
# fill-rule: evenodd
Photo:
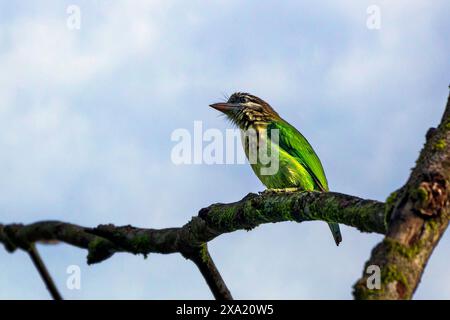
<svg viewBox="0 0 450 320">
<path fill-rule="evenodd" d="M 171 159 L 174 130 L 229 128 L 208 105 L 235 91 L 308 138 L 332 191 L 384 201 L 442 116 L 449 11 L 444 0 L 0 0 L 0 223 L 176 227 L 264 190 L 247 164 Z M 209 248 L 235 298 L 351 299 L 382 236 L 341 230 L 339 247 L 324 222 L 285 222 Z M 416 299 L 450 299 L 449 245 L 447 233 Z M 85 250 L 39 250 L 66 299 L 212 298 L 178 254 L 88 266 Z M 49 298 L 25 253 L 0 248 L 0 261 L 0 299 Z"/>
</svg>

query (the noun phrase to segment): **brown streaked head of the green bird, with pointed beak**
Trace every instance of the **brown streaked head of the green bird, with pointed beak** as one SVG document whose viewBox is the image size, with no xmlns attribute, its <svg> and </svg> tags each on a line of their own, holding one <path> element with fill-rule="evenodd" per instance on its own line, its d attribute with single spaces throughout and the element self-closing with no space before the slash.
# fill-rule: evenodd
<svg viewBox="0 0 450 320">
<path fill-rule="evenodd" d="M 253 124 L 279 119 L 278 114 L 264 100 L 248 93 L 236 92 L 227 102 L 214 103 L 212 108 L 224 113 L 239 128 L 247 130 Z"/>
</svg>

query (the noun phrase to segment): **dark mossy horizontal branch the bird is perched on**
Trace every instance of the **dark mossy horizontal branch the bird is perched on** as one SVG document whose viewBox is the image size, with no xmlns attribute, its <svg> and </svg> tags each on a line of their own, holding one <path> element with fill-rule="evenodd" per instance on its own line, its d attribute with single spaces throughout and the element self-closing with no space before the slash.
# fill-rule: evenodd
<svg viewBox="0 0 450 320">
<path fill-rule="evenodd" d="M 385 205 L 340 193 L 265 191 L 248 194 L 230 204 L 213 204 L 200 210 L 181 228 L 143 229 L 99 225 L 86 228 L 60 221 L 29 225 L 0 224 L 0 242 L 6 250 L 27 250 L 39 241 L 62 241 L 88 250 L 88 264 L 98 263 L 116 252 L 148 255 L 181 253 L 193 261 L 216 299 L 232 299 L 206 243 L 224 233 L 250 230 L 264 223 L 324 220 L 355 227 L 364 232 L 385 233 Z"/>
</svg>

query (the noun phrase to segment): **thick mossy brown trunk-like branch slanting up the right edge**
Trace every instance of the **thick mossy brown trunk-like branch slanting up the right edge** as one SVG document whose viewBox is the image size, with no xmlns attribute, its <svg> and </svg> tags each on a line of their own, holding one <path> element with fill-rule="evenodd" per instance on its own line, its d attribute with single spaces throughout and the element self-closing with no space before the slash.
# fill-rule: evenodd
<svg viewBox="0 0 450 320">
<path fill-rule="evenodd" d="M 450 97 L 441 124 L 430 129 L 416 167 L 388 201 L 389 228 L 366 263 L 381 269 L 381 289 L 368 275 L 354 286 L 357 299 L 410 299 L 450 216 Z"/>
</svg>

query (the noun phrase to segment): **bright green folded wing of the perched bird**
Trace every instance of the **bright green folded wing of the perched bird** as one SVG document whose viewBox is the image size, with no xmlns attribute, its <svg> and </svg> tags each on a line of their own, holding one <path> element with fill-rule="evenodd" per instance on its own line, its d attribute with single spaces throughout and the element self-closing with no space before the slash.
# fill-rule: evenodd
<svg viewBox="0 0 450 320">
<path fill-rule="evenodd" d="M 328 182 L 319 157 L 309 144 L 308 140 L 293 126 L 284 120 L 272 122 L 267 127 L 268 135 L 271 129 L 278 129 L 278 145 L 294 157 L 311 175 L 321 191 L 328 191 Z"/>
</svg>

